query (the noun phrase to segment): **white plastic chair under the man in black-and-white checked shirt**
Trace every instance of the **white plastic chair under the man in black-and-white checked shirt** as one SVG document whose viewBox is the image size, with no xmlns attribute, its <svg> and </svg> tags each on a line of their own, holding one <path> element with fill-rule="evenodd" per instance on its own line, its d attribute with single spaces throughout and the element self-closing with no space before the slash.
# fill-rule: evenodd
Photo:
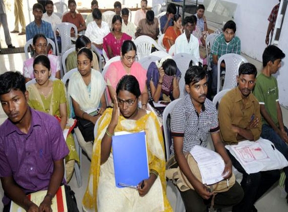
<svg viewBox="0 0 288 212">
<path fill-rule="evenodd" d="M 163 130 L 164 130 L 164 141 L 165 141 L 165 152 L 166 152 L 166 159 L 168 160 L 170 158 L 170 146 L 172 144 L 171 142 L 171 136 L 170 136 L 170 126 L 168 127 L 167 118 L 168 115 L 171 113 L 173 108 L 175 107 L 175 104 L 180 100 L 180 98 L 175 99 L 174 101 L 171 101 L 167 107 L 164 109 L 163 112 Z M 185 211 L 185 206 L 181 197 L 181 194 L 177 189 L 176 190 L 176 208 L 175 211 Z"/>
</svg>

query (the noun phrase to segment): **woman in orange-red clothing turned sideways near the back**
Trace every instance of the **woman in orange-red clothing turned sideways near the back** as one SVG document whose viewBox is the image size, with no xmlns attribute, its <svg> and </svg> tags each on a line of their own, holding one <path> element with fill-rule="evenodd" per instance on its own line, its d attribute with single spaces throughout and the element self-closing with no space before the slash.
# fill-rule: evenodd
<svg viewBox="0 0 288 212">
<path fill-rule="evenodd" d="M 175 14 L 173 18 L 173 25 L 168 27 L 164 37 L 163 45 L 169 51 L 170 47 L 174 45 L 176 38 L 183 33 L 182 18 L 179 14 Z"/>
</svg>

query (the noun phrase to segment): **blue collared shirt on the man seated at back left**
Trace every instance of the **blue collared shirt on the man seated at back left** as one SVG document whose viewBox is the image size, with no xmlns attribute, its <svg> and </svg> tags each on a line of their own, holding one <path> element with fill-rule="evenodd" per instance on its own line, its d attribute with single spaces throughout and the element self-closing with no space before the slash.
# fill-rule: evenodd
<svg viewBox="0 0 288 212">
<path fill-rule="evenodd" d="M 35 21 L 26 26 L 26 41 L 32 39 L 36 34 L 43 34 L 46 38 L 54 40 L 52 25 L 43 20 L 41 20 L 40 27 L 36 25 Z"/>
</svg>

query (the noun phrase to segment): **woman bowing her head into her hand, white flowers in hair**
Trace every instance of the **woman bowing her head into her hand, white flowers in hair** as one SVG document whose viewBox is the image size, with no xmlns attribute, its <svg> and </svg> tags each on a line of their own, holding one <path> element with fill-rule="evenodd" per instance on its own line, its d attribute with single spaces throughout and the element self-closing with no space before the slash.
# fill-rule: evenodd
<svg viewBox="0 0 288 212">
<path fill-rule="evenodd" d="M 152 62 L 147 71 L 149 99 L 173 101 L 180 95 L 179 80 L 181 72 L 172 57 Z"/>
</svg>

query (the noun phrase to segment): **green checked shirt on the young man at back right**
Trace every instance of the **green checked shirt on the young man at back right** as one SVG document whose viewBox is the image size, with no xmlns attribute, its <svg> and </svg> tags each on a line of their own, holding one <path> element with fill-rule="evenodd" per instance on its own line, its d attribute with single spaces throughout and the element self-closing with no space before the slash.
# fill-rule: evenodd
<svg viewBox="0 0 288 212">
<path fill-rule="evenodd" d="M 219 59 L 222 55 L 229 53 L 240 54 L 241 41 L 237 36 L 235 36 L 229 43 L 227 43 L 225 41 L 224 34 L 222 33 L 215 38 L 215 41 L 211 48 L 210 61 L 212 61 L 212 55 L 217 54 Z"/>
</svg>

